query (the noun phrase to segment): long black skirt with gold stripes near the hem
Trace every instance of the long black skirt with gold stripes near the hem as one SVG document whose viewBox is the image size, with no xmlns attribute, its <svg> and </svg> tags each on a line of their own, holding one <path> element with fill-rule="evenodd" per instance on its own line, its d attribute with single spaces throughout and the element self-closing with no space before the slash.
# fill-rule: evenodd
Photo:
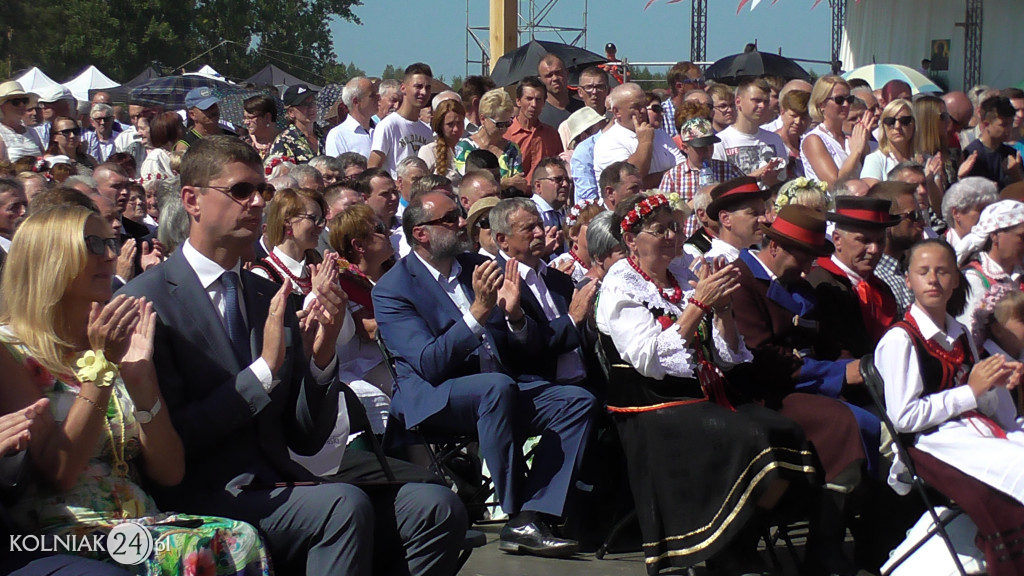
<svg viewBox="0 0 1024 576">
<path fill-rule="evenodd" d="M 722 550 L 777 480 L 816 483 L 800 426 L 748 404 L 712 402 L 612 415 L 622 437 L 648 574 Z"/>
</svg>

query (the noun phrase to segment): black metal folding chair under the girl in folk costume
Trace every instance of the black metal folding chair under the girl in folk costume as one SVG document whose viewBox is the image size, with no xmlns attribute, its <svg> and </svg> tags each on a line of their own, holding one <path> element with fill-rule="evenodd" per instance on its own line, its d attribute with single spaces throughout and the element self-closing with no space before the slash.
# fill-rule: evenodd
<svg viewBox="0 0 1024 576">
<path fill-rule="evenodd" d="M 889 436 L 892 437 L 892 443 L 895 447 L 896 453 L 899 455 L 900 461 L 906 466 L 908 478 L 904 480 L 908 480 L 910 482 L 914 490 L 921 496 L 921 499 L 925 502 L 925 506 L 928 507 L 928 513 L 932 517 L 932 528 L 929 529 L 926 537 L 922 538 L 920 542 L 906 550 L 906 552 L 893 563 L 890 570 L 884 571 L 881 576 L 888 576 L 888 574 L 891 574 L 900 564 L 910 558 L 911 554 L 918 551 L 918 549 L 921 548 L 921 546 L 923 546 L 925 542 L 930 540 L 935 534 L 938 534 L 939 537 L 942 538 L 942 541 L 945 542 L 946 548 L 948 548 L 949 554 L 952 557 L 953 563 L 955 564 L 956 570 L 961 576 L 967 576 L 967 571 L 964 569 L 963 563 L 961 563 L 959 556 L 956 554 L 956 548 L 953 546 L 953 542 L 949 538 L 949 534 L 946 532 L 946 526 L 948 526 L 961 513 L 964 513 L 963 510 L 954 508 L 956 513 L 948 515 L 947 518 L 943 520 L 935 509 L 935 505 L 932 503 L 932 498 L 929 496 L 928 485 L 926 485 L 925 481 L 918 476 L 918 470 L 913 465 L 913 461 L 910 459 L 910 453 L 907 451 L 906 445 L 904 444 L 904 439 L 906 437 L 896 431 L 896 426 L 893 425 L 888 413 L 886 413 L 885 382 L 883 382 L 882 376 L 879 374 L 878 368 L 874 366 L 873 354 L 868 354 L 860 359 L 860 375 L 864 379 L 864 387 L 866 387 L 868 394 L 870 394 L 871 401 L 874 402 L 874 406 L 881 413 L 882 425 L 886 427 Z"/>
</svg>

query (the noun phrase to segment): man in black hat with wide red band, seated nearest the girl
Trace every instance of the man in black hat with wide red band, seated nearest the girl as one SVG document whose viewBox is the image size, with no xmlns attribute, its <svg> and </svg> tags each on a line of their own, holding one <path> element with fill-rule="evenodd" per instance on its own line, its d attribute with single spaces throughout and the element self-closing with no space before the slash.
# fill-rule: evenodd
<svg viewBox="0 0 1024 576">
<path fill-rule="evenodd" d="M 886 248 L 886 230 L 900 217 L 882 198 L 841 196 L 827 219 L 836 222 L 836 253 L 818 258 L 807 275 L 821 311 L 822 329 L 836 335 L 835 346 L 821 346 L 822 359 L 860 358 L 897 320 L 892 290 L 874 276 Z"/>
</svg>

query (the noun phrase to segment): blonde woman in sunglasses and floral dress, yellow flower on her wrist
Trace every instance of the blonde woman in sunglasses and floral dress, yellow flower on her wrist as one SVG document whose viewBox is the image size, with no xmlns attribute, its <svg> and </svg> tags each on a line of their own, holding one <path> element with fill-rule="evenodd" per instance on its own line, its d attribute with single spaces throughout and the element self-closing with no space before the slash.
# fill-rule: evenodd
<svg viewBox="0 0 1024 576">
<path fill-rule="evenodd" d="M 49 399 L 29 443 L 40 482 L 12 508 L 18 529 L 85 537 L 130 521 L 156 540 L 139 574 L 269 574 L 252 526 L 163 513 L 141 487 L 181 482 L 184 449 L 157 384 L 153 305 L 111 299 L 118 246 L 99 214 L 61 205 L 27 219 L 7 255 L 0 412 Z"/>
</svg>

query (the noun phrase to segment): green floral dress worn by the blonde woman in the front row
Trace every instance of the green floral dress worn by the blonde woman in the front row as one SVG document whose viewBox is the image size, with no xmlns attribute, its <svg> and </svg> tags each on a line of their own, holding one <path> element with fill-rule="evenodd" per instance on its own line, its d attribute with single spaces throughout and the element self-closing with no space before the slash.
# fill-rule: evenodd
<svg viewBox="0 0 1024 576">
<path fill-rule="evenodd" d="M 78 395 L 73 376 L 54 377 L 24 345 L 0 329 L 0 341 L 29 370 L 33 383 L 50 400 L 57 424 L 68 417 Z M 270 575 L 266 548 L 257 530 L 244 522 L 163 513 L 140 487 L 140 424 L 135 406 L 118 377 L 106 408 L 106 422 L 93 457 L 78 484 L 65 492 L 45 485 L 31 487 L 11 510 L 26 534 L 90 537 L 108 534 L 115 526 L 133 522 L 153 535 L 154 551 L 137 566 L 122 566 L 145 575 Z M 119 465 L 118 462 L 125 465 Z M 114 563 L 104 551 L 95 560 Z"/>
</svg>

